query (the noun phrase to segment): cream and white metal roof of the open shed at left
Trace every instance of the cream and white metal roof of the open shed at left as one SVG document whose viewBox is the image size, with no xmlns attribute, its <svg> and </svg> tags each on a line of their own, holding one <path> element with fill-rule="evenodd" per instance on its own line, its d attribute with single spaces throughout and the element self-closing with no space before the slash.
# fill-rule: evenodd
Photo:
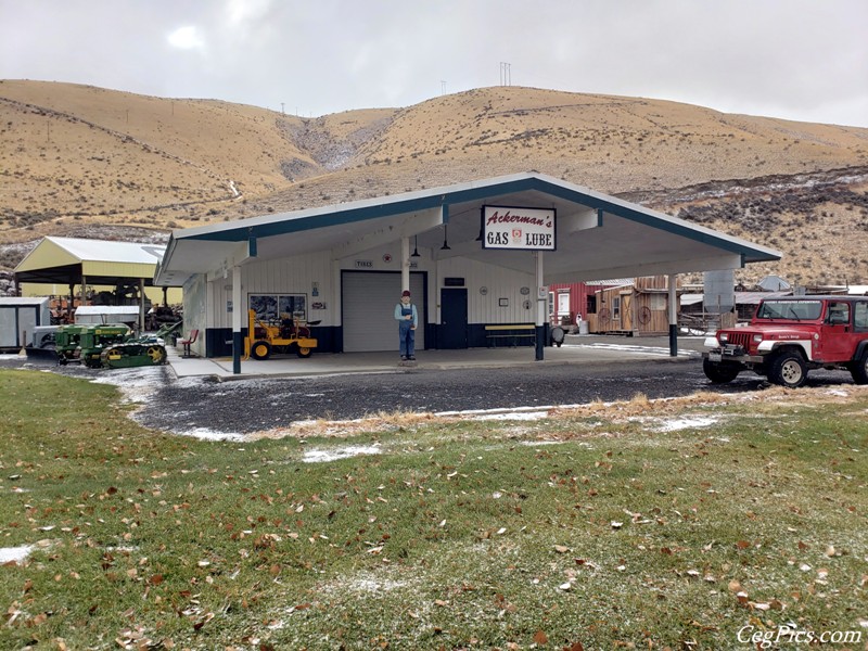
<svg viewBox="0 0 868 651">
<path fill-rule="evenodd" d="M 152 284 L 166 247 L 140 242 L 113 242 L 46 237 L 15 267 L 17 282 L 80 284 L 129 283 L 144 279 Z"/>
</svg>

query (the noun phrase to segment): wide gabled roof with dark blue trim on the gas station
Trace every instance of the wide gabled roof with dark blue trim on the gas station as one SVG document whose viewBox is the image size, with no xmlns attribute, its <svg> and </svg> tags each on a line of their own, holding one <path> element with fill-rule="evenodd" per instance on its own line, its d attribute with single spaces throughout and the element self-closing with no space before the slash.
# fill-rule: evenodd
<svg viewBox="0 0 868 651">
<path fill-rule="evenodd" d="M 545 255 L 546 284 L 736 269 L 780 259 L 775 250 L 553 177 L 523 173 L 175 231 L 155 283 L 179 286 L 196 273 L 315 252 L 340 259 L 403 237 L 416 237 L 414 244 L 430 248 L 435 260 L 461 256 L 533 272 L 527 252 L 482 247 L 484 205 L 556 209 L 557 250 Z M 441 250 L 445 226 L 448 251 Z"/>
</svg>

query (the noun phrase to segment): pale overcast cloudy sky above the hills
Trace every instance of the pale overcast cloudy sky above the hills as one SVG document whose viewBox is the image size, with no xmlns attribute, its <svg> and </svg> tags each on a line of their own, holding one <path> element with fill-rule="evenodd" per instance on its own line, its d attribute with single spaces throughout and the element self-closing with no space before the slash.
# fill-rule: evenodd
<svg viewBox="0 0 868 651">
<path fill-rule="evenodd" d="M 306 117 L 508 82 L 868 127 L 866 27 L 867 0 L 0 0 L 0 79 Z"/>
</svg>

